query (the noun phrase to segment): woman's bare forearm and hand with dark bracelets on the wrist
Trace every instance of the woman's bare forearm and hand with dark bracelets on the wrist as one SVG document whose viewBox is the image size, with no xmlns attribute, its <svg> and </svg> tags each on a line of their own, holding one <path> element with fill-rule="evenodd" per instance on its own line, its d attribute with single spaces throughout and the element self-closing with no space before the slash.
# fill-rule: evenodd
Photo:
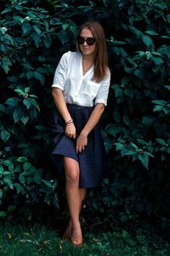
<svg viewBox="0 0 170 256">
<path fill-rule="evenodd" d="M 59 88 L 54 88 L 52 90 L 52 96 L 54 98 L 54 103 L 56 108 L 59 110 L 62 118 L 65 120 L 65 124 L 71 120 L 71 114 L 68 111 L 65 103 L 65 97 L 63 91 Z M 65 135 L 67 137 L 76 138 L 76 127 L 73 123 L 65 125 Z"/>
</svg>

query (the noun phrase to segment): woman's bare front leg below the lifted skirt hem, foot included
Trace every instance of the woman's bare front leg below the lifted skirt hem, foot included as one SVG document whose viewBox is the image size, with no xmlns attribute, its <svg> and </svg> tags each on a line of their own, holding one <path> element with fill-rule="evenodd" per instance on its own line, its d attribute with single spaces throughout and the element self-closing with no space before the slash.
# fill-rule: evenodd
<svg viewBox="0 0 170 256">
<path fill-rule="evenodd" d="M 82 229 L 79 221 L 80 210 L 82 207 L 82 199 L 86 192 L 85 189 L 79 189 L 80 169 L 77 160 L 64 157 L 65 177 L 66 177 L 66 196 L 68 207 L 71 214 L 72 228 L 71 241 L 75 245 L 82 243 Z"/>
</svg>

